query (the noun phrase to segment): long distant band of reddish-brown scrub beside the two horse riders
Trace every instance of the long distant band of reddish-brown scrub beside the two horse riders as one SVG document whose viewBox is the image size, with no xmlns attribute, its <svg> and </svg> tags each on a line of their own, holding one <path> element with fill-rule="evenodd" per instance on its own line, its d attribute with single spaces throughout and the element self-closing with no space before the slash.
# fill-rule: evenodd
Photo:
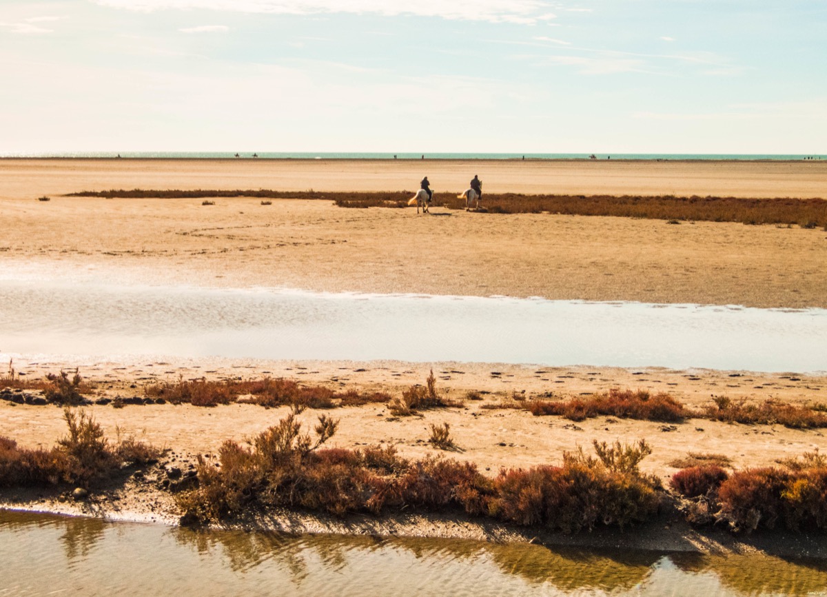
<svg viewBox="0 0 827 597">
<path fill-rule="evenodd" d="M 70 193 L 103 198 L 296 198 L 327 199 L 342 208 L 404 208 L 413 192 L 320 192 L 271 189 L 110 189 Z M 465 209 L 457 193 L 438 193 L 436 202 L 449 209 Z M 640 217 L 667 222 L 741 222 L 744 224 L 827 227 L 825 198 L 675 197 L 673 195 L 527 195 L 485 193 L 488 213 L 554 213 L 579 216 Z"/>
</svg>

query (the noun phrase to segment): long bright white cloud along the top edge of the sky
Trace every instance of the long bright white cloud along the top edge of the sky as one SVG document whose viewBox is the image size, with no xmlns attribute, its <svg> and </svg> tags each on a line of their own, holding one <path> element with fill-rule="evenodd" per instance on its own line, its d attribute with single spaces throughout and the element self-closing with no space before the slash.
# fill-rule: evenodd
<svg viewBox="0 0 827 597">
<path fill-rule="evenodd" d="M 93 0 L 108 7 L 135 11 L 205 9 L 227 12 L 267 12 L 314 15 L 373 13 L 385 17 L 413 15 L 461 21 L 533 25 L 549 21 L 545 0 Z M 590 10 L 590 9 L 573 9 Z"/>
</svg>

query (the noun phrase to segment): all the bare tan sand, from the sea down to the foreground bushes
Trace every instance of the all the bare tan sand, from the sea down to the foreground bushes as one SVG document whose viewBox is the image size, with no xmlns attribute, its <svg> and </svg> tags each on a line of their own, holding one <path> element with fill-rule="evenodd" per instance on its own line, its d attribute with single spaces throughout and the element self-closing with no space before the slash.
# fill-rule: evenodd
<svg viewBox="0 0 827 597">
<path fill-rule="evenodd" d="M 423 170 L 424 169 L 424 170 Z M 825 197 L 827 162 L 430 162 L 282 160 L 0 160 L 0 275 L 7 279 L 106 279 L 109 284 L 278 287 L 328 292 L 538 296 L 646 303 L 827 308 L 827 236 L 799 227 L 658 220 L 498 215 L 434 208 L 345 209 L 325 200 L 65 197 L 80 190 L 414 189 L 423 174 L 442 189 L 464 189 L 479 174 L 486 189 L 518 193 L 669 193 L 736 197 Z M 38 197 L 50 201 L 39 202 Z M 437 216 L 438 214 L 438 216 Z M 2 284 L 2 281 L 0 281 Z M 0 351 L 6 349 L 0 346 Z M 5 364 L 0 363 L 5 367 Z M 140 395 L 157 380 L 202 376 L 285 376 L 333 389 L 399 394 L 433 367 L 462 408 L 394 418 L 384 405 L 340 408 L 337 447 L 383 443 L 404 456 L 433 453 L 430 423 L 450 423 L 461 451 L 494 475 L 500 468 L 557 462 L 592 440 L 645 437 L 644 469 L 666 480 L 689 451 L 729 456 L 734 467 L 771 466 L 827 446 L 823 432 L 689 419 L 662 423 L 611 418 L 571 423 L 525 411 L 488 409 L 514 392 L 571 397 L 609 388 L 668 392 L 692 408 L 713 395 L 761 402 L 825 404 L 827 377 L 794 372 L 542 368 L 486 363 L 395 361 L 90 361 L 15 356 L 31 378 L 79 367 L 96 396 Z M 496 375 L 493 375 L 495 372 Z M 122 432 L 194 457 L 228 438 L 243 441 L 286 408 L 249 404 L 196 408 L 170 404 L 89 407 L 109 433 Z M 50 446 L 65 432 L 59 408 L 0 401 L 0 435 Z M 303 415 L 308 422 L 315 413 Z"/>
</svg>

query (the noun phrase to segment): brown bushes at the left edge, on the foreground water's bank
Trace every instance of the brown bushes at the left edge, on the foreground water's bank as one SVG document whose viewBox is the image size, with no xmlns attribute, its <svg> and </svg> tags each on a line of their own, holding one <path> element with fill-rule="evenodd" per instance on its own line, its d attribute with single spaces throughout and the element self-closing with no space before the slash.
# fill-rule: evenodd
<svg viewBox="0 0 827 597">
<path fill-rule="evenodd" d="M 83 410 L 64 410 L 69 433 L 50 450 L 28 450 L 0 437 L 0 487 L 72 483 L 88 486 L 116 474 L 122 463 L 146 464 L 160 450 L 129 437 L 112 445 L 100 425 Z"/>
</svg>

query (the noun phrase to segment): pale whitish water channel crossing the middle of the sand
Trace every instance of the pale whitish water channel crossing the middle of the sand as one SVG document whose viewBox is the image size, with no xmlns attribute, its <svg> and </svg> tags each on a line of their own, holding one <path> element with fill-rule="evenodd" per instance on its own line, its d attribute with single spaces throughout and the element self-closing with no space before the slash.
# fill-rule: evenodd
<svg viewBox="0 0 827 597">
<path fill-rule="evenodd" d="M 0 351 L 827 370 L 827 310 L 0 279 Z"/>
</svg>

